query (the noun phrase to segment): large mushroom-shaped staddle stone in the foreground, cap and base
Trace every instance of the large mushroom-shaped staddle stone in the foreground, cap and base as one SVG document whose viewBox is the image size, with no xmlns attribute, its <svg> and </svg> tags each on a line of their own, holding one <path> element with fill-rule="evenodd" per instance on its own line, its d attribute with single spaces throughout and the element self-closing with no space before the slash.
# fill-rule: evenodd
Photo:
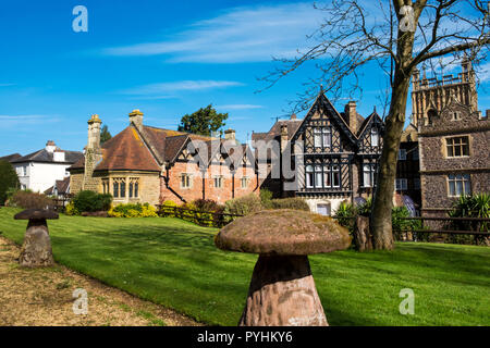
<svg viewBox="0 0 490 348">
<path fill-rule="evenodd" d="M 328 325 L 307 256 L 348 248 L 346 228 L 310 212 L 267 210 L 235 220 L 215 243 L 260 254 L 241 326 Z"/>
</svg>

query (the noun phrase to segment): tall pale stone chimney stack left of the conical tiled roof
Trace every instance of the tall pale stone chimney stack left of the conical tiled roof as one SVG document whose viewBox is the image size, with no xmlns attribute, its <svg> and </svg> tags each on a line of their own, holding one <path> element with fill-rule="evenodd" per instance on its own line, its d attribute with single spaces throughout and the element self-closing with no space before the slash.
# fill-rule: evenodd
<svg viewBox="0 0 490 348">
<path fill-rule="evenodd" d="M 98 190 L 98 182 L 94 178 L 94 170 L 102 160 L 102 150 L 100 148 L 100 121 L 99 115 L 94 114 L 88 120 L 88 141 L 85 148 L 85 172 L 82 189 Z"/>
</svg>

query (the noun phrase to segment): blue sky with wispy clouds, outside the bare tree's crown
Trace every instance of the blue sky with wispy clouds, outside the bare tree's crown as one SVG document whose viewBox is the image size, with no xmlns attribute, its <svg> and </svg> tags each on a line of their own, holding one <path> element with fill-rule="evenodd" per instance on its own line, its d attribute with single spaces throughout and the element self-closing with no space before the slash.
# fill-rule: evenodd
<svg viewBox="0 0 490 348">
<path fill-rule="evenodd" d="M 88 33 L 72 29 L 77 4 L 88 10 Z M 289 111 L 315 71 L 306 66 L 259 94 L 257 77 L 274 67 L 271 55 L 307 47 L 321 20 L 311 2 L 2 1 L 0 156 L 26 154 L 48 139 L 82 150 L 93 113 L 114 135 L 133 109 L 145 124 L 174 129 L 209 103 L 229 112 L 226 127 L 245 141 Z M 479 88 L 482 110 L 489 83 Z M 358 111 L 366 116 L 380 109 L 381 71 L 367 69 L 363 87 Z"/>
</svg>

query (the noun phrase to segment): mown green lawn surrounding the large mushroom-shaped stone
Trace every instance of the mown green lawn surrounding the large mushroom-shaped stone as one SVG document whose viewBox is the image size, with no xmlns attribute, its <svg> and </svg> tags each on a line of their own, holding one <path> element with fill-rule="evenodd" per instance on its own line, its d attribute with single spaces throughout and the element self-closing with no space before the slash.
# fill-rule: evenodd
<svg viewBox="0 0 490 348">
<path fill-rule="evenodd" d="M 17 211 L 0 209 L 0 232 L 20 244 L 27 222 L 13 220 Z M 236 325 L 257 256 L 218 250 L 217 229 L 170 217 L 48 224 L 58 262 L 198 321 Z M 397 244 L 310 262 L 331 325 L 490 325 L 490 248 Z M 402 288 L 415 291 L 414 315 L 399 312 Z"/>
</svg>

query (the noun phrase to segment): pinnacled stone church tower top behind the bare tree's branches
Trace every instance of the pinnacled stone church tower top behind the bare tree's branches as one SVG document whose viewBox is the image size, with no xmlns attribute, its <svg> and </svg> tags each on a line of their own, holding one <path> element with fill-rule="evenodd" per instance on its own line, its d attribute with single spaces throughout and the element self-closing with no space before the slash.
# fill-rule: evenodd
<svg viewBox="0 0 490 348">
<path fill-rule="evenodd" d="M 430 124 L 431 119 L 439 115 L 452 97 L 471 111 L 478 110 L 471 62 L 465 58 L 461 65 L 462 72 L 457 76 L 444 75 L 441 79 L 427 78 L 425 72 L 420 79 L 420 72 L 415 69 L 412 76 L 412 123 L 415 126 Z"/>
</svg>

